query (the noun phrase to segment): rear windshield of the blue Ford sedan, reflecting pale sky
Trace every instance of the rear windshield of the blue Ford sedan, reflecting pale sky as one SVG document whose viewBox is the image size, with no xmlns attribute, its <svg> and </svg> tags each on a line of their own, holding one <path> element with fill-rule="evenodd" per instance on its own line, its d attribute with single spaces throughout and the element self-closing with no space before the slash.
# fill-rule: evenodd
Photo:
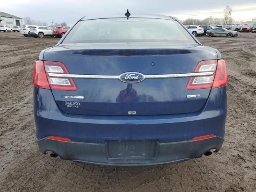
<svg viewBox="0 0 256 192">
<path fill-rule="evenodd" d="M 62 43 L 183 42 L 195 40 L 174 20 L 107 18 L 80 21 Z"/>
</svg>

